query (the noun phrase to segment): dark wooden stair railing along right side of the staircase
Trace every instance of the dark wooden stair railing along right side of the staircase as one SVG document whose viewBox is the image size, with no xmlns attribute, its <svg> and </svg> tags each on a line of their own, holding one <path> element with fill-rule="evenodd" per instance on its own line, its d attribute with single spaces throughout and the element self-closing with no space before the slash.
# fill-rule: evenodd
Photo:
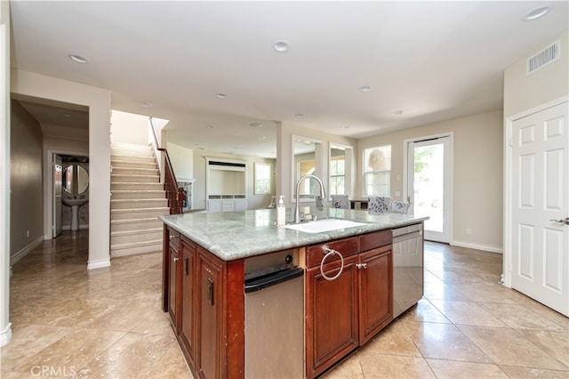
<svg viewBox="0 0 569 379">
<path fill-rule="evenodd" d="M 164 167 L 162 167 L 162 159 L 157 159 L 158 171 L 160 172 L 160 177 L 164 178 L 164 190 L 166 191 L 166 198 L 168 199 L 170 214 L 183 214 L 184 201 L 186 200 L 184 188 L 178 185 L 178 181 L 176 180 L 176 175 L 174 174 L 174 169 L 172 167 L 172 162 L 168 156 L 168 150 L 158 147 L 158 138 L 156 137 L 156 130 L 154 129 L 152 117 L 149 117 L 149 119 L 151 131 L 150 135 L 152 136 L 151 141 L 156 152 L 156 157 L 158 157 L 158 151 L 162 151 L 164 157 Z"/>
</svg>

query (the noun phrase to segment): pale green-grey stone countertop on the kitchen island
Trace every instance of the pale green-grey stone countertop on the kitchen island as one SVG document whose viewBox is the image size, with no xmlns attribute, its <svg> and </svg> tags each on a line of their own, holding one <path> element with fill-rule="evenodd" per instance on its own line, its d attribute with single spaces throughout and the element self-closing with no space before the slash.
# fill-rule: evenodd
<svg viewBox="0 0 569 379">
<path fill-rule="evenodd" d="M 286 221 L 293 221 L 293 208 L 286 209 Z M 159 216 L 166 225 L 178 230 L 224 261 L 308 246 L 338 238 L 357 236 L 375 230 L 397 228 L 423 222 L 428 217 L 413 214 L 368 214 L 367 211 L 302 206 L 301 212 L 317 214 L 318 220 L 343 219 L 365 222 L 353 228 L 306 233 L 276 226 L 276 209 L 244 212 L 170 214 Z"/>
</svg>

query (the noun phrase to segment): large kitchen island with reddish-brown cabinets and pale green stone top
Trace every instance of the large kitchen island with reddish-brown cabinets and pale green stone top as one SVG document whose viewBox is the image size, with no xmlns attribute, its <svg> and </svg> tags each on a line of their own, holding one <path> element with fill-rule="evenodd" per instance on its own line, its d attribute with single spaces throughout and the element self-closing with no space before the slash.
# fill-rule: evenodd
<svg viewBox="0 0 569 379">
<path fill-rule="evenodd" d="M 303 211 L 359 224 L 292 230 L 276 226 L 275 209 L 160 217 L 163 310 L 194 375 L 321 375 L 394 319 L 394 276 L 422 294 L 422 236 L 414 242 L 421 243 L 421 262 L 399 275 L 392 230 L 422 232 L 426 218 Z M 408 270 L 421 271 L 421 279 L 411 283 Z"/>
</svg>

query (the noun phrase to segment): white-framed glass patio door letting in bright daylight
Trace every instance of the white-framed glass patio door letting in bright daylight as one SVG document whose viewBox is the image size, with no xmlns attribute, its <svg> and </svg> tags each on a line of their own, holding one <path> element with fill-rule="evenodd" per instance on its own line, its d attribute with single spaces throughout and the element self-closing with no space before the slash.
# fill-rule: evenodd
<svg viewBox="0 0 569 379">
<path fill-rule="evenodd" d="M 450 135 L 407 141 L 409 213 L 427 216 L 425 239 L 450 242 L 453 139 Z"/>
</svg>

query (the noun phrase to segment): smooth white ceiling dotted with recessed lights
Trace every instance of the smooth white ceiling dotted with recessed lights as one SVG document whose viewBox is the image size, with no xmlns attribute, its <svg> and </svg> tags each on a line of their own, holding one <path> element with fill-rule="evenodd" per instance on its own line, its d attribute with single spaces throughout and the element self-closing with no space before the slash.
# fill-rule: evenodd
<svg viewBox="0 0 569 379">
<path fill-rule="evenodd" d="M 503 70 L 568 28 L 567 4 L 12 1 L 12 67 L 107 88 L 189 149 L 275 157 L 276 121 L 363 138 L 501 109 Z"/>
</svg>

